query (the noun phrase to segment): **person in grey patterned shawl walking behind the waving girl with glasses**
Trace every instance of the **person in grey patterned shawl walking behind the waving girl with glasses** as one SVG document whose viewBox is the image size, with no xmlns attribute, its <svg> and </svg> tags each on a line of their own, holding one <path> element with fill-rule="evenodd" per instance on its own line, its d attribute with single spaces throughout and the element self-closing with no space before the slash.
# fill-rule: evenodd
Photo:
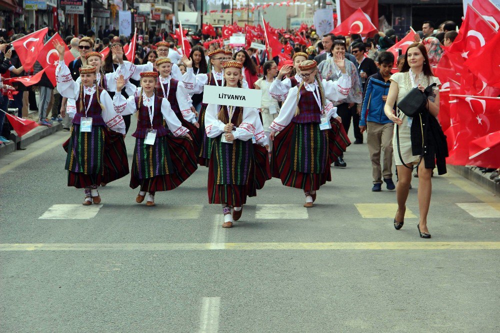
<svg viewBox="0 0 500 333">
<path fill-rule="evenodd" d="M 343 39 L 333 40 L 332 54 L 333 57 L 327 58 L 326 60 L 321 62 L 318 65 L 318 69 L 321 77 L 326 80 L 334 81 L 342 75 L 340 68 L 338 68 L 338 66 L 336 65 L 335 59 L 338 54 L 340 54 L 341 56 L 345 56 L 345 41 Z M 345 69 L 347 71 L 347 74 L 351 78 L 349 95 L 347 96 L 347 98 L 342 99 L 341 101 L 332 100 L 332 103 L 333 106 L 337 106 L 337 113 L 340 118 L 342 118 L 342 125 L 345 129 L 345 132 L 348 132 L 352 117 L 357 114 L 357 112 L 359 112 L 359 114 L 361 113 L 361 102 L 363 100 L 363 95 L 360 77 L 357 72 L 357 66 L 355 66 L 354 63 L 352 63 L 348 59 L 345 59 Z M 361 135 L 358 125 L 359 123 L 357 123 L 357 126 L 354 126 L 353 128 L 354 136 L 356 138 Z M 343 160 L 343 154 L 341 156 L 338 156 L 333 165 L 337 167 L 345 167 L 347 165 L 347 163 L 345 163 L 345 161 Z"/>
</svg>

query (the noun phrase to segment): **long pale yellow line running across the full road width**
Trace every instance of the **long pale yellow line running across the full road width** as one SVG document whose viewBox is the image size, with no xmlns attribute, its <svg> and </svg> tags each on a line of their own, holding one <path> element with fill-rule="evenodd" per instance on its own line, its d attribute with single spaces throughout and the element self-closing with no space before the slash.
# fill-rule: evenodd
<svg viewBox="0 0 500 333">
<path fill-rule="evenodd" d="M 0 251 L 213 250 L 212 243 L 4 243 Z M 215 248 L 220 249 L 220 248 Z M 500 241 L 255 242 L 224 243 L 224 250 L 452 250 L 500 249 Z"/>
</svg>

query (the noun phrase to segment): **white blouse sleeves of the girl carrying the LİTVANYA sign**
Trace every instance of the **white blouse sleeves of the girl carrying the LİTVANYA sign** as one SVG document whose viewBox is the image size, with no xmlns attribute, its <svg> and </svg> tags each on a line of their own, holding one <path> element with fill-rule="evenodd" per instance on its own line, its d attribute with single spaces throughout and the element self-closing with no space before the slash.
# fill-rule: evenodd
<svg viewBox="0 0 500 333">
<path fill-rule="evenodd" d="M 211 138 L 217 137 L 224 132 L 225 123 L 218 119 L 218 111 L 219 105 L 208 104 L 206 106 L 205 132 L 206 135 Z M 241 124 L 236 128 L 235 132 L 233 132 L 234 139 L 239 139 L 242 141 L 250 139 L 253 135 L 255 135 L 257 122 L 260 123 L 258 111 L 254 107 L 243 107 Z"/>
</svg>

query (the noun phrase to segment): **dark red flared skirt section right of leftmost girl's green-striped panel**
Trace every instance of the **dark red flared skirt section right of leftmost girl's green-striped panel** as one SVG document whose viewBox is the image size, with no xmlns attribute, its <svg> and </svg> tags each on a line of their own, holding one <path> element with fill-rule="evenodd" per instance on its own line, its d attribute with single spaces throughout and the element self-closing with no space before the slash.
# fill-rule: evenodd
<svg viewBox="0 0 500 333">
<path fill-rule="evenodd" d="M 110 183 L 129 173 L 128 157 L 126 154 L 123 135 L 106 129 L 104 140 L 104 174 L 102 182 Z"/>
</svg>

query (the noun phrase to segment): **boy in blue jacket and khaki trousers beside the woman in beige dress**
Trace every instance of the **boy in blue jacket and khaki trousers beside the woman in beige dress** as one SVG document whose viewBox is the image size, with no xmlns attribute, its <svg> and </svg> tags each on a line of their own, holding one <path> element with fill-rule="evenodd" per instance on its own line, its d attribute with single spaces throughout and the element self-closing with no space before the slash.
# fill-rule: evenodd
<svg viewBox="0 0 500 333">
<path fill-rule="evenodd" d="M 367 131 L 366 143 L 370 153 L 374 192 L 381 191 L 382 177 L 387 189 L 394 189 L 392 181 L 392 133 L 394 123 L 383 112 L 390 85 L 390 70 L 394 55 L 383 51 L 378 55 L 378 72 L 368 77 L 365 85 L 359 129 Z M 366 116 L 366 113 L 367 116 Z M 380 151 L 383 150 L 383 169 L 380 167 Z"/>
</svg>

